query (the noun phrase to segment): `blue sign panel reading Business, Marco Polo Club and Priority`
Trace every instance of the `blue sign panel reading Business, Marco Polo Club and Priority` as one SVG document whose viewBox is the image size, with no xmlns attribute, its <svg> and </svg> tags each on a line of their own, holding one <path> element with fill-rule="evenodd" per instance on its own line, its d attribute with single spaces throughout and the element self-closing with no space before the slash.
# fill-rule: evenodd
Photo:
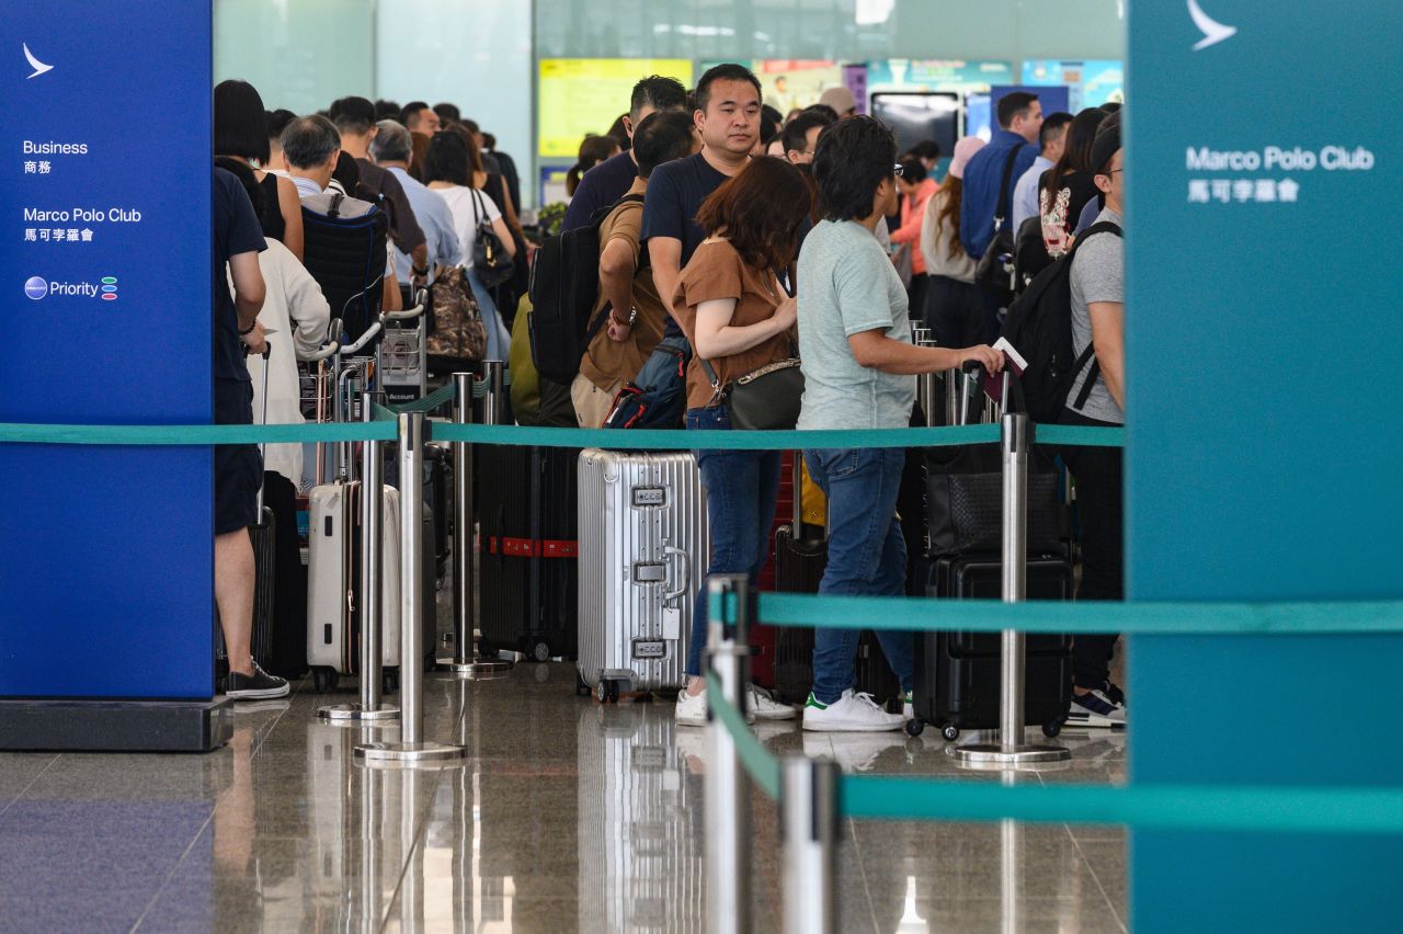
<svg viewBox="0 0 1403 934">
<path fill-rule="evenodd" d="M 210 6 L 6 6 L 0 421 L 209 422 Z M 0 446 L 0 697 L 209 698 L 209 449 Z"/>
</svg>

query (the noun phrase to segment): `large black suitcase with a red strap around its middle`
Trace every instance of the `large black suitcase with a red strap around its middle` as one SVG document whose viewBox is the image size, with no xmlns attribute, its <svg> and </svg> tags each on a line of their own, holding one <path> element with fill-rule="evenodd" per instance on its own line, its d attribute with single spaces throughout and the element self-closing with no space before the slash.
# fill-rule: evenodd
<svg viewBox="0 0 1403 934">
<path fill-rule="evenodd" d="M 474 450 L 483 648 L 544 662 L 578 652 L 577 449 Z"/>
</svg>

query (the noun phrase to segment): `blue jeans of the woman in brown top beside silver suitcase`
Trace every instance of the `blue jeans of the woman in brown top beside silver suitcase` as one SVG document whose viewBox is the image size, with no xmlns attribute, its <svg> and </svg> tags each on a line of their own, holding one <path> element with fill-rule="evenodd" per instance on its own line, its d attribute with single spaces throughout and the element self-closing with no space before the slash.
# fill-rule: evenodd
<svg viewBox="0 0 1403 934">
<path fill-rule="evenodd" d="M 731 429 L 731 417 L 721 408 L 689 408 L 687 429 Z M 711 534 L 707 575 L 748 574 L 756 582 L 770 543 L 774 503 L 780 495 L 780 453 L 777 450 L 693 452 L 706 487 L 706 519 Z M 706 649 L 707 582 L 697 588 L 692 610 L 692 644 L 687 675 L 702 673 Z"/>
</svg>

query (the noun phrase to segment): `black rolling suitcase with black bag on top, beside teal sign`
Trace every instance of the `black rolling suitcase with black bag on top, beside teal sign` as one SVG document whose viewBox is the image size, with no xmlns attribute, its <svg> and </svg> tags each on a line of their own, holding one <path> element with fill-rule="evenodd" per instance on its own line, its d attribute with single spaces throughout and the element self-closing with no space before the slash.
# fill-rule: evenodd
<svg viewBox="0 0 1403 934">
<path fill-rule="evenodd" d="M 969 411 L 968 405 L 961 405 Z M 943 599 L 999 599 L 1003 477 L 992 445 L 932 449 L 926 456 L 926 517 L 932 554 L 923 564 L 926 593 Z M 1066 508 L 1061 478 L 1035 447 L 1028 457 L 1030 600 L 1072 597 Z M 998 632 L 926 632 L 915 641 L 908 732 L 926 724 L 947 740 L 965 729 L 999 725 L 1000 637 Z M 1024 722 L 1056 735 L 1072 701 L 1072 642 L 1065 635 L 1027 639 Z"/>
</svg>

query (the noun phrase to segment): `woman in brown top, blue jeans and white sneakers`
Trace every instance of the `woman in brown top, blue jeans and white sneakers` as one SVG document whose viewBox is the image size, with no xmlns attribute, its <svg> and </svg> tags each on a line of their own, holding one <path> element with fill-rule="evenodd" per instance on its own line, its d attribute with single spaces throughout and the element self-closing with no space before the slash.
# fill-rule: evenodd
<svg viewBox="0 0 1403 934">
<path fill-rule="evenodd" d="M 694 351 L 687 369 L 687 429 L 730 431 L 721 390 L 732 380 L 794 355 L 798 303 L 776 273 L 798 250 L 800 226 L 812 208 L 812 189 L 797 168 L 762 156 L 702 202 L 697 224 L 707 238 L 692 254 L 672 314 Z M 716 373 L 713 384 L 702 360 Z M 707 574 L 749 574 L 765 565 L 774 501 L 780 487 L 779 452 L 699 450 L 707 491 L 711 555 Z M 702 645 L 706 641 L 706 581 L 699 582 L 687 655 L 687 689 L 678 698 L 678 722 L 702 700 Z M 765 698 L 751 710 L 766 718 L 794 717 L 793 708 Z"/>
</svg>

